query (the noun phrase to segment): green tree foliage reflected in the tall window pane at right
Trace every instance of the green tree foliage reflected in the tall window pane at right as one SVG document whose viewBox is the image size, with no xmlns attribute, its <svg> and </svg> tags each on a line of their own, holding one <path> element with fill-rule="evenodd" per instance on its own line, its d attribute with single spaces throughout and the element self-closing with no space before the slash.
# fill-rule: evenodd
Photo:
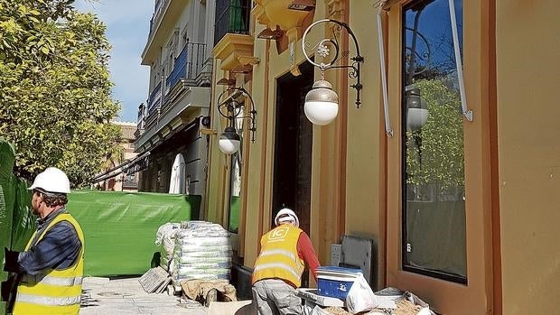
<svg viewBox="0 0 560 315">
<path fill-rule="evenodd" d="M 464 186 L 461 99 L 442 79 L 415 81 L 429 117 L 416 131 L 407 131 L 406 182 L 437 183 L 442 189 Z"/>
</svg>

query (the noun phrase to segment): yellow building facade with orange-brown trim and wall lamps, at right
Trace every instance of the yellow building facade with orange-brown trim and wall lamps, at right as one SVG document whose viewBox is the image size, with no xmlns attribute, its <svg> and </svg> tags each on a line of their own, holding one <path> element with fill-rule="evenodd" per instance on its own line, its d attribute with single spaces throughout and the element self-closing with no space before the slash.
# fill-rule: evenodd
<svg viewBox="0 0 560 315">
<path fill-rule="evenodd" d="M 250 273 L 260 236 L 279 208 L 290 207 L 324 265 L 331 264 L 331 245 L 341 236 L 371 239 L 375 289 L 414 292 L 442 314 L 555 313 L 560 281 L 555 1 L 453 1 L 462 79 L 449 66 L 456 59 L 446 55 L 455 49 L 453 30 L 440 32 L 450 21 L 447 0 L 318 0 L 310 11 L 288 8 L 298 1 L 254 3 L 249 33 L 228 33 L 213 50 L 215 133 L 209 135 L 203 205 L 208 219 L 234 232 L 240 269 Z M 420 15 L 430 18 L 416 19 Z M 356 79 L 348 69 L 327 69 L 324 79 L 338 94 L 340 108 L 334 122 L 318 126 L 302 119 L 305 93 L 321 78 L 303 55 L 302 37 L 310 24 L 325 18 L 348 23 L 355 34 L 364 57 L 363 89 L 356 108 L 356 90 L 350 87 Z M 275 37 L 278 30 L 275 39 L 259 38 L 271 31 L 268 38 Z M 305 41 L 331 38 L 332 30 L 328 23 L 317 24 Z M 341 52 L 348 51 L 341 53 L 341 64 L 349 64 L 354 42 L 345 30 L 334 30 L 341 35 Z M 424 51 L 413 49 L 414 38 L 420 47 L 422 37 Z M 311 55 L 318 62 L 319 56 Z M 254 142 L 247 121 L 236 125 L 243 141 L 235 159 L 218 146 L 229 122 L 217 107 L 230 95 L 228 85 L 217 84 L 220 79 L 229 88 L 245 88 L 257 110 Z M 430 118 L 421 128 L 452 125 L 443 129 L 459 134 L 437 142 L 415 130 L 407 120 L 409 87 L 420 87 L 428 103 Z M 247 98 L 238 101 L 249 107 Z M 437 116 L 435 103 L 456 106 L 456 116 L 445 118 L 454 125 L 437 120 L 453 111 Z M 465 105 L 472 121 L 461 115 Z M 441 151 L 456 154 L 449 160 L 447 153 L 437 155 Z M 441 156 L 447 160 L 438 160 Z M 439 172 L 423 169 L 438 163 Z"/>
</svg>

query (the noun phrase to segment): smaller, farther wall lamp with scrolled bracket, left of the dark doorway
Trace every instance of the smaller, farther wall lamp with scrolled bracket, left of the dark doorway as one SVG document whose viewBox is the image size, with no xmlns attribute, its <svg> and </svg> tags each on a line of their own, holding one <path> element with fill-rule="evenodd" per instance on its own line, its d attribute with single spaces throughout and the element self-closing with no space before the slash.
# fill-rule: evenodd
<svg viewBox="0 0 560 315">
<path fill-rule="evenodd" d="M 222 97 L 223 100 L 222 100 Z M 246 99 L 249 103 L 248 115 L 245 116 Z M 253 97 L 245 88 L 228 88 L 218 97 L 219 115 L 228 119 L 228 126 L 219 136 L 219 150 L 222 153 L 233 154 L 238 152 L 241 144 L 241 137 L 237 133 L 236 122 L 239 119 L 247 118 L 250 122 L 248 130 L 251 132 L 251 142 L 255 142 L 255 132 L 257 131 L 257 110 Z"/>
</svg>

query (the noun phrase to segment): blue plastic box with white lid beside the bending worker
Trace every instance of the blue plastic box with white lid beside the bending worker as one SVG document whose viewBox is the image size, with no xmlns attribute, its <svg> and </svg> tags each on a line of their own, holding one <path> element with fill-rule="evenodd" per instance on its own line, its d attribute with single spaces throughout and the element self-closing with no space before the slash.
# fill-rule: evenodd
<svg viewBox="0 0 560 315">
<path fill-rule="evenodd" d="M 317 268 L 317 292 L 319 295 L 346 300 L 354 280 L 361 274 L 359 269 L 342 267 Z"/>
</svg>

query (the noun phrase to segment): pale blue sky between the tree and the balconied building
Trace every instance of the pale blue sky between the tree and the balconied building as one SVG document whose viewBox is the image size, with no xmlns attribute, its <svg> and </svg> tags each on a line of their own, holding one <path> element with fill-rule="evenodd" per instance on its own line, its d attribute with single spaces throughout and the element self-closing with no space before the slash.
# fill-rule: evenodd
<svg viewBox="0 0 560 315">
<path fill-rule="evenodd" d="M 148 94 L 150 68 L 140 64 L 154 12 L 154 0 L 76 0 L 81 12 L 97 14 L 113 46 L 109 70 L 113 98 L 121 103 L 118 121 L 135 122 Z"/>
</svg>

